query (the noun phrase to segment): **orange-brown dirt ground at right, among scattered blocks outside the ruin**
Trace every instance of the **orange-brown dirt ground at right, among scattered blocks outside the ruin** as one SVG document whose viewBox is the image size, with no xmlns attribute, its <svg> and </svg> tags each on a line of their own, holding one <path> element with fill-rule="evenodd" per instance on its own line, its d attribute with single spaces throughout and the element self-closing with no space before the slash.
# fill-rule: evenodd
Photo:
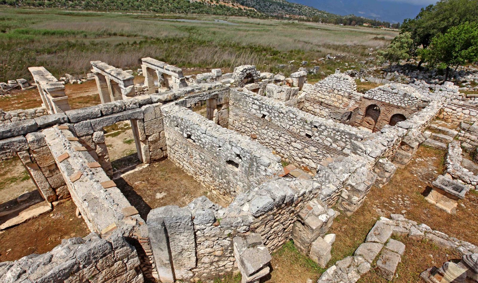
<svg viewBox="0 0 478 283">
<path fill-rule="evenodd" d="M 477 245 L 477 194 L 468 193 L 459 202 L 456 215 L 449 215 L 424 200 L 427 185 L 443 172 L 444 157 L 444 151 L 421 146 L 413 160 L 405 168 L 398 169 L 387 185 L 382 188 L 372 187 L 364 205 L 356 213 L 350 217 L 338 216 L 329 230 L 337 238 L 328 267 L 335 261 L 352 255 L 377 219 L 380 216 L 390 217 L 392 213 L 404 214 L 408 219 Z M 399 240 L 405 244 L 406 249 L 397 269 L 398 278 L 394 280 L 397 283 L 420 282 L 418 275 L 425 269 L 439 267 L 447 260 L 458 258 L 456 252 L 431 242 L 408 238 Z M 372 270 L 363 275 L 359 282 L 387 281 Z"/>
</svg>

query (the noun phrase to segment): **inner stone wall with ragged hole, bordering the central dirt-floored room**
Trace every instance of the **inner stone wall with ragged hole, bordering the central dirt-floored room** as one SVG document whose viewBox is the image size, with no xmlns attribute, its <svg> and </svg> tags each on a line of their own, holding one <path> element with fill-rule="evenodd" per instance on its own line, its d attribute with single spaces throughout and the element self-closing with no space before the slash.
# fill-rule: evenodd
<svg viewBox="0 0 478 283">
<path fill-rule="evenodd" d="M 187 108 L 162 108 L 168 158 L 229 200 L 282 173 L 280 158 L 257 142 Z"/>
</svg>

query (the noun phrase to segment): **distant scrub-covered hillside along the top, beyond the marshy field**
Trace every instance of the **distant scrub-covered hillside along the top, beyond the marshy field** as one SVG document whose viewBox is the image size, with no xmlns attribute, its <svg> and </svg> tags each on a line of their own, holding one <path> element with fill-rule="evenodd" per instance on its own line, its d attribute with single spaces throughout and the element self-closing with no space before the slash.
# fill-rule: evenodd
<svg viewBox="0 0 478 283">
<path fill-rule="evenodd" d="M 307 0 L 303 0 L 307 1 Z M 0 0 L 0 4 L 14 6 L 12 0 Z M 178 14 L 213 14 L 226 16 L 260 17 L 292 17 L 304 20 L 323 21 L 326 23 L 373 25 L 383 23 L 372 22 L 365 18 L 340 16 L 321 11 L 302 4 L 286 0 L 16 0 L 20 7 L 80 9 L 88 11 L 148 11 L 155 13 Z"/>
</svg>

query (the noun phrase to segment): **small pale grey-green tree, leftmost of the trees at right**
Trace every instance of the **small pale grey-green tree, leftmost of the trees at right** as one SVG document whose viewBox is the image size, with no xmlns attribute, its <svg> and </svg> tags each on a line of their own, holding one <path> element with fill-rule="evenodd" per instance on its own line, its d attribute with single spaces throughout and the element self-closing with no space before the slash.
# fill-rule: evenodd
<svg viewBox="0 0 478 283">
<path fill-rule="evenodd" d="M 397 35 L 385 50 L 379 50 L 377 57 L 380 63 L 389 62 L 390 64 L 399 63 L 402 60 L 411 58 L 410 50 L 413 48 L 411 33 Z"/>
</svg>

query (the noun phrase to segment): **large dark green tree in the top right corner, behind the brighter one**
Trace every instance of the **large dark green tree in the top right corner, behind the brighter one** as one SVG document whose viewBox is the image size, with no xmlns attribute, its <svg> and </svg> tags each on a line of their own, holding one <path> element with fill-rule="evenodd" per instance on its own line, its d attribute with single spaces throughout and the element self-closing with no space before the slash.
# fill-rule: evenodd
<svg viewBox="0 0 478 283">
<path fill-rule="evenodd" d="M 412 34 L 414 48 L 411 55 L 417 55 L 420 46 L 426 48 L 437 34 L 444 34 L 450 27 L 460 23 L 478 23 L 478 0 L 440 0 L 418 13 L 414 19 L 406 19 L 402 33 Z M 422 61 L 418 63 L 420 68 Z"/>
</svg>

